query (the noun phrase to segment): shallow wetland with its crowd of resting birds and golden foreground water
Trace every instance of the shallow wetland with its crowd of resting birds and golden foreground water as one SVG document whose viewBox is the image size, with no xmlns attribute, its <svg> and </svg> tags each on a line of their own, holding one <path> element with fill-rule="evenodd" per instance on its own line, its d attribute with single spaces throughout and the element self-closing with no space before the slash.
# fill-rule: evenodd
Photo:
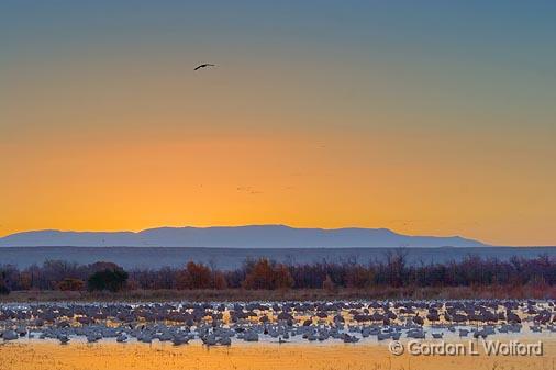
<svg viewBox="0 0 556 370">
<path fill-rule="evenodd" d="M 0 369 L 552 370 L 555 333 L 552 300 L 3 303 Z"/>
</svg>

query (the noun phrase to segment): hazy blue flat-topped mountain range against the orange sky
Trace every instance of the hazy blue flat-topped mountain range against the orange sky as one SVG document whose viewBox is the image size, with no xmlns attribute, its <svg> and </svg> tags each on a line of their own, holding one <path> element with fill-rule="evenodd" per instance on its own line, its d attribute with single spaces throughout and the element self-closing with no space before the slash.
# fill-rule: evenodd
<svg viewBox="0 0 556 370">
<path fill-rule="evenodd" d="M 459 236 L 409 236 L 388 228 L 296 228 L 283 225 L 159 227 L 134 232 L 62 232 L 54 229 L 12 234 L 0 247 L 485 247 Z"/>
</svg>

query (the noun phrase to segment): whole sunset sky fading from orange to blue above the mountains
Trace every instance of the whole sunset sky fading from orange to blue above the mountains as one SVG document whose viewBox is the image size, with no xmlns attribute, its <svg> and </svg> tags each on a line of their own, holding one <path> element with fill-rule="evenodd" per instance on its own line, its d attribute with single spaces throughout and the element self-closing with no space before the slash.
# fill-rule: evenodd
<svg viewBox="0 0 556 370">
<path fill-rule="evenodd" d="M 556 245 L 555 16 L 1 0 L 0 236 L 288 224 Z"/>
</svg>

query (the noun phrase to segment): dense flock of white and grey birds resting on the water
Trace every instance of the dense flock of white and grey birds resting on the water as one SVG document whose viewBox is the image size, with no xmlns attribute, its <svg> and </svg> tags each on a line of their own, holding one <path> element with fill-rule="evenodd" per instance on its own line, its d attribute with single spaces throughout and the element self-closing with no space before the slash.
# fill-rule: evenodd
<svg viewBox="0 0 556 370">
<path fill-rule="evenodd" d="M 154 340 L 176 346 L 244 341 L 357 343 L 365 338 L 441 339 L 445 334 L 556 333 L 554 301 L 349 301 L 251 303 L 49 303 L 0 306 L 4 341 Z"/>
</svg>

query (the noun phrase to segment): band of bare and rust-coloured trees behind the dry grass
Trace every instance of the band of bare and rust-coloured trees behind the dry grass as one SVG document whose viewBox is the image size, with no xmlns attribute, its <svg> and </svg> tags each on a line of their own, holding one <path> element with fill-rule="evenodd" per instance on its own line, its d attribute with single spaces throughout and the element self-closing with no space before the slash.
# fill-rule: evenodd
<svg viewBox="0 0 556 370">
<path fill-rule="evenodd" d="M 387 254 L 383 261 L 286 265 L 268 259 L 246 260 L 235 270 L 187 262 L 184 268 L 123 268 L 112 262 L 78 265 L 46 260 L 25 269 L 0 266 L 0 293 L 13 290 L 157 290 L 243 288 L 248 290 L 327 289 L 372 287 L 486 287 L 554 285 L 556 259 L 540 256 L 510 260 L 468 256 L 445 264 L 408 264 L 404 250 Z"/>
</svg>

